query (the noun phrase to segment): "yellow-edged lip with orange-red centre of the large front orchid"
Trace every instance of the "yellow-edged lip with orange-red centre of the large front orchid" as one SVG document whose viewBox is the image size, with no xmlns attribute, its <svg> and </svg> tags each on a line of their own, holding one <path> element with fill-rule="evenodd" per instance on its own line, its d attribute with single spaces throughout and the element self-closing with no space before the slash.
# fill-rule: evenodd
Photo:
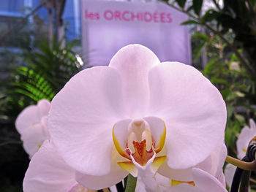
<svg viewBox="0 0 256 192">
<path fill-rule="evenodd" d="M 119 162 L 118 165 L 132 173 L 135 167 L 142 168 L 151 162 L 151 166 L 155 165 L 151 170 L 157 171 L 166 158 L 165 155 L 156 158 L 165 145 L 165 136 L 166 126 L 160 118 L 118 121 L 113 126 L 113 142 L 118 153 L 129 160 Z M 154 161 L 156 162 L 153 164 Z M 136 175 L 135 172 L 133 175 Z"/>
</svg>

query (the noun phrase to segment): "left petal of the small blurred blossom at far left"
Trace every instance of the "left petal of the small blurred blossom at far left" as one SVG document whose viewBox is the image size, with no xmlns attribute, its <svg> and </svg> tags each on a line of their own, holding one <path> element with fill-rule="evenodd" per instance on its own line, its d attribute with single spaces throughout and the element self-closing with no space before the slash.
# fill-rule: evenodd
<svg viewBox="0 0 256 192">
<path fill-rule="evenodd" d="M 26 128 L 29 128 L 34 123 L 39 123 L 40 118 L 38 115 L 38 107 L 36 105 L 30 105 L 26 107 L 15 121 L 15 127 L 19 134 L 23 134 L 23 131 L 26 131 Z"/>
</svg>

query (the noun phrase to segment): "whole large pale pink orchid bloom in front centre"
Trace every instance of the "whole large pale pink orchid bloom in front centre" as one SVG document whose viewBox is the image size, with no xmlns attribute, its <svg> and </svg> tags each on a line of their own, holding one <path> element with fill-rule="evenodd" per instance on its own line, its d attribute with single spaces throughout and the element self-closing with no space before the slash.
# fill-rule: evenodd
<svg viewBox="0 0 256 192">
<path fill-rule="evenodd" d="M 91 189 L 196 166 L 222 142 L 225 123 L 225 102 L 203 74 L 160 63 L 142 45 L 72 77 L 49 115 L 57 151 Z"/>
</svg>

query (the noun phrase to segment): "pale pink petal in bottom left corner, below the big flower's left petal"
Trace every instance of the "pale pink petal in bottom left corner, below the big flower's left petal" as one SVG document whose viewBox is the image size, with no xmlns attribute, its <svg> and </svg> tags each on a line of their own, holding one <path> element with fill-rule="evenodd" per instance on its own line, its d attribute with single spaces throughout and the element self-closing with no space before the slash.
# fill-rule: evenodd
<svg viewBox="0 0 256 192">
<path fill-rule="evenodd" d="M 33 156 L 23 180 L 24 192 L 66 192 L 75 183 L 75 170 L 67 166 L 48 140 Z"/>
</svg>

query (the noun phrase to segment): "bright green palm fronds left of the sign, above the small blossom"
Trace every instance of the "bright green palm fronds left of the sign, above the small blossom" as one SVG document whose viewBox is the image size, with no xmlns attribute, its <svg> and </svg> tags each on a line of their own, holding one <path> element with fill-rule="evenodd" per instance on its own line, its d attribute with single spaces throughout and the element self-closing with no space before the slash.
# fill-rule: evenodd
<svg viewBox="0 0 256 192">
<path fill-rule="evenodd" d="M 61 42 L 57 44 L 53 41 L 52 45 L 42 42 L 39 49 L 24 52 L 25 65 L 13 70 L 12 82 L 5 91 L 7 115 L 15 117 L 29 104 L 40 99 L 53 99 L 80 70 L 78 55 L 72 50 L 74 46 L 75 42 L 69 42 L 63 48 Z"/>
</svg>

